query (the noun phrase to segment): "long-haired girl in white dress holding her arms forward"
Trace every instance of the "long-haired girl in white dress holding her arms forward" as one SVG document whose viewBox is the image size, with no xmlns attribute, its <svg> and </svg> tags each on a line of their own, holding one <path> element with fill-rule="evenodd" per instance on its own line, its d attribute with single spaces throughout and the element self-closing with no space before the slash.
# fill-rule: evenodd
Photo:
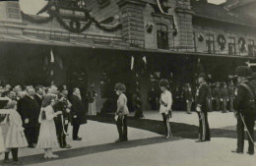
<svg viewBox="0 0 256 166">
<path fill-rule="evenodd" d="M 52 153 L 52 148 L 59 147 L 53 118 L 59 114 L 62 114 L 62 112 L 58 111 L 54 113 L 52 104 L 52 96 L 46 95 L 42 101 L 41 111 L 38 119 L 38 122 L 41 125 L 36 148 L 44 148 L 44 158 L 58 157 L 58 155 Z"/>
</svg>

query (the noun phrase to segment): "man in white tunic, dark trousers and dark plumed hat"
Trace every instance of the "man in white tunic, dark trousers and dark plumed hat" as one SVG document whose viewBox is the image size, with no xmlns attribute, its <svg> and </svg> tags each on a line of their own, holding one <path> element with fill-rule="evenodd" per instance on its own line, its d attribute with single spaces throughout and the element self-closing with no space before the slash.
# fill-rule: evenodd
<svg viewBox="0 0 256 166">
<path fill-rule="evenodd" d="M 162 91 L 162 93 L 160 94 L 160 114 L 162 116 L 163 124 L 165 127 L 166 138 L 172 137 L 169 126 L 169 118 L 171 117 L 172 95 L 167 89 L 168 86 L 168 81 L 160 80 L 160 90 Z"/>
</svg>

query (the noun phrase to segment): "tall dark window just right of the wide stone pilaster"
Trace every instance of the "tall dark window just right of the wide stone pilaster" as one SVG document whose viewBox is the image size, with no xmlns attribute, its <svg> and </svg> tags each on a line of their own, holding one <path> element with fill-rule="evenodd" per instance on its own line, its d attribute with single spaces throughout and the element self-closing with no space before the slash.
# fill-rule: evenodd
<svg viewBox="0 0 256 166">
<path fill-rule="evenodd" d="M 163 25 L 163 24 L 157 25 L 157 41 L 158 41 L 158 48 L 168 49 L 168 30 L 166 25 Z"/>
</svg>

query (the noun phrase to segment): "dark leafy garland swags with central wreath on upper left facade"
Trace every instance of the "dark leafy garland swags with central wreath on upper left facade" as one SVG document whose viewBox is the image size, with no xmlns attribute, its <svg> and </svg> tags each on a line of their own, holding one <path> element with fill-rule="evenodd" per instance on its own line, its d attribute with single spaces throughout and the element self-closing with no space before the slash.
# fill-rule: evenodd
<svg viewBox="0 0 256 166">
<path fill-rule="evenodd" d="M 80 9 L 81 11 L 81 9 Z M 25 20 L 28 20 L 31 23 L 35 24 L 45 24 L 50 21 L 52 21 L 54 18 L 57 19 L 58 23 L 65 29 L 71 31 L 71 32 L 77 32 L 81 33 L 85 31 L 87 28 L 90 28 L 90 26 L 95 23 L 96 28 L 99 28 L 104 31 L 116 31 L 119 28 L 122 28 L 122 25 L 120 23 L 116 23 L 113 27 L 108 27 L 106 25 L 101 25 L 99 22 L 96 21 L 94 17 L 91 16 L 90 11 L 87 9 L 83 9 L 83 13 L 85 14 L 85 18 L 83 20 L 86 20 L 87 23 L 82 27 L 80 23 L 80 19 L 76 17 L 71 17 L 69 24 L 67 24 L 63 17 L 60 15 L 59 12 L 59 7 L 56 3 L 49 1 L 47 5 L 41 9 L 39 13 L 47 12 L 49 14 L 48 18 L 43 18 L 43 19 L 36 19 L 28 14 L 25 14 L 23 11 L 21 11 L 22 18 Z"/>
</svg>

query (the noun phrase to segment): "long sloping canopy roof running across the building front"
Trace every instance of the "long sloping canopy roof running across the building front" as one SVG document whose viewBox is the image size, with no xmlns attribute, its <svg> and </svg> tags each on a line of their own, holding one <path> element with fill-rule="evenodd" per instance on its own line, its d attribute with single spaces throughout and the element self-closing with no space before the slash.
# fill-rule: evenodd
<svg viewBox="0 0 256 166">
<path fill-rule="evenodd" d="M 79 47 L 79 48 L 92 48 L 92 49 L 107 49 L 107 50 L 118 50 L 118 51 L 127 51 L 136 52 L 136 54 L 158 54 L 158 55 L 187 55 L 187 56 L 204 56 L 204 57 L 219 57 L 219 58 L 242 58 L 242 59 L 256 59 L 256 57 L 251 56 L 239 56 L 239 55 L 226 55 L 226 54 L 207 54 L 200 52 L 183 52 L 183 51 L 171 51 L 163 49 L 146 49 L 146 48 L 137 48 L 131 46 L 121 46 L 121 45 L 103 45 L 100 43 L 86 42 L 78 39 L 70 40 L 56 40 L 54 38 L 46 39 L 39 38 L 31 35 L 24 34 L 5 34 L 0 33 L 0 42 L 4 43 L 20 43 L 20 44 L 37 44 L 37 45 L 49 45 L 49 46 L 63 46 L 63 47 Z"/>
</svg>

